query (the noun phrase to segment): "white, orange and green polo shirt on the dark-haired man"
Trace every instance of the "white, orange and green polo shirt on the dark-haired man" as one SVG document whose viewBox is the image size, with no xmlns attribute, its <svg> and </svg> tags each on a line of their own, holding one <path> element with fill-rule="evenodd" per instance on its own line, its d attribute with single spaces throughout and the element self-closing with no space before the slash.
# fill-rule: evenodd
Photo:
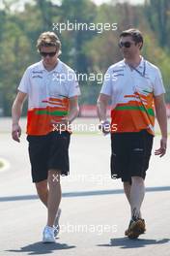
<svg viewBox="0 0 170 256">
<path fill-rule="evenodd" d="M 100 93 L 111 96 L 111 132 L 146 129 L 155 134 L 154 97 L 165 93 L 160 71 L 155 65 L 142 58 L 135 69 L 125 60 L 110 66 Z"/>
</svg>

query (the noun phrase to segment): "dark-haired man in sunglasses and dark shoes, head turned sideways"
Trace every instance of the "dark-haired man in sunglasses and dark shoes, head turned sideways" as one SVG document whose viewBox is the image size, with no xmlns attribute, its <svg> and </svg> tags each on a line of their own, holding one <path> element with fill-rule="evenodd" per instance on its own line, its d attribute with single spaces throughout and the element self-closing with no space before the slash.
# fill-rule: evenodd
<svg viewBox="0 0 170 256">
<path fill-rule="evenodd" d="M 98 100 L 104 134 L 108 133 L 109 125 L 106 107 L 112 101 L 111 176 L 124 182 L 130 206 L 130 222 L 125 233 L 129 239 L 136 239 L 146 231 L 141 205 L 155 135 L 155 109 L 161 131 L 160 147 L 155 154 L 163 156 L 167 143 L 164 86 L 158 68 L 141 56 L 142 47 L 143 36 L 139 30 L 131 28 L 121 33 L 119 48 L 124 60 L 107 70 Z"/>
</svg>

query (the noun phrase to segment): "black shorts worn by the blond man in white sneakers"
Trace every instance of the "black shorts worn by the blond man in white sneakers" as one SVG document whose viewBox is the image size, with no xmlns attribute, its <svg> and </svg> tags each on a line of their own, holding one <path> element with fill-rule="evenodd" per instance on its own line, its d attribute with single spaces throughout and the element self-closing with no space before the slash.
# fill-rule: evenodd
<svg viewBox="0 0 170 256">
<path fill-rule="evenodd" d="M 70 172 L 69 132 L 51 132 L 44 136 L 27 136 L 33 182 L 47 179 L 48 171 L 58 170 L 62 176 Z"/>
</svg>

